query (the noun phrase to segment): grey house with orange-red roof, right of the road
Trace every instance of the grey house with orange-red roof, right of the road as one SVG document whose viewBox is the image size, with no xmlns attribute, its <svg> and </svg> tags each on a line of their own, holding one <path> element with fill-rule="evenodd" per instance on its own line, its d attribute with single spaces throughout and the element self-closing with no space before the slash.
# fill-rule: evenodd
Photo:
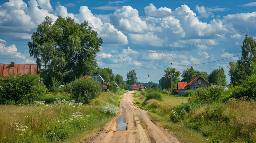
<svg viewBox="0 0 256 143">
<path fill-rule="evenodd" d="M 178 82 L 178 91 L 179 95 L 183 96 L 184 92 L 188 89 L 194 90 L 200 87 L 209 86 L 210 83 L 208 83 L 206 80 L 204 80 L 202 77 L 195 77 L 191 81 L 187 82 Z"/>
</svg>

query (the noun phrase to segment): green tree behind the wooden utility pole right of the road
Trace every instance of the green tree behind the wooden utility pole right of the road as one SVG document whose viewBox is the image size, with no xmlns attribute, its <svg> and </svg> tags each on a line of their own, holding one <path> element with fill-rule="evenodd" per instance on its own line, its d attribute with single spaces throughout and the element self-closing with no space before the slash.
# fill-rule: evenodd
<svg viewBox="0 0 256 143">
<path fill-rule="evenodd" d="M 171 75 L 172 75 L 172 82 L 171 82 Z M 172 87 L 173 91 L 177 90 L 177 82 L 180 80 L 180 71 L 176 71 L 175 68 L 171 69 L 170 67 L 164 70 L 163 77 L 161 78 L 161 86 L 164 89 L 168 89 Z M 171 85 L 172 83 L 172 85 Z"/>
</svg>

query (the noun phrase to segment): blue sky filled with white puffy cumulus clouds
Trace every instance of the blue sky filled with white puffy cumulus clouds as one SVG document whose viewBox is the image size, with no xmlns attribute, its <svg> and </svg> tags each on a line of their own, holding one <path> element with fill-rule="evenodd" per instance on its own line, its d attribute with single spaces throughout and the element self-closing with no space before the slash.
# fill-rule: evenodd
<svg viewBox="0 0 256 143">
<path fill-rule="evenodd" d="M 114 74 L 135 69 L 139 82 L 158 83 L 170 63 L 186 70 L 193 64 L 208 74 L 237 61 L 245 34 L 256 38 L 255 1 L 53 1 L 0 2 L 0 63 L 34 64 L 28 41 L 45 16 L 84 20 L 104 42 L 99 67 Z M 229 58 L 233 57 L 233 58 Z M 225 59 L 229 58 L 229 59 Z M 220 59 L 225 59 L 217 61 Z M 217 62 L 212 62 L 217 61 Z M 208 63 L 212 62 L 212 63 Z M 207 64 L 200 64 L 207 63 Z"/>
</svg>

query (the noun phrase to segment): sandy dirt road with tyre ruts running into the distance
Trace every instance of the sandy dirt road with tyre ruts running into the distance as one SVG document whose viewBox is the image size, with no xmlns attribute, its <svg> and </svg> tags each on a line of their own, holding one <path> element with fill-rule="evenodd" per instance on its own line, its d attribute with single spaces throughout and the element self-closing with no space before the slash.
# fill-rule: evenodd
<svg viewBox="0 0 256 143">
<path fill-rule="evenodd" d="M 124 94 L 120 100 L 117 116 L 84 143 L 178 143 L 178 139 L 161 125 L 154 123 L 147 112 L 139 109 L 132 98 L 133 91 Z M 118 130 L 118 119 L 124 116 L 125 130 Z"/>
</svg>

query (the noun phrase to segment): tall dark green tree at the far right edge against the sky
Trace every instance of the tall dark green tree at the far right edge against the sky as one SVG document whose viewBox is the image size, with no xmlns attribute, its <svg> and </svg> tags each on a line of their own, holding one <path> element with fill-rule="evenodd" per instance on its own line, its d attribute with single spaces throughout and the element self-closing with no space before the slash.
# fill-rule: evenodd
<svg viewBox="0 0 256 143">
<path fill-rule="evenodd" d="M 245 39 L 241 45 L 242 57 L 237 62 L 229 62 L 228 73 L 230 82 L 233 85 L 242 84 L 247 77 L 251 76 L 255 71 L 256 63 L 256 40 L 245 35 Z"/>
</svg>

